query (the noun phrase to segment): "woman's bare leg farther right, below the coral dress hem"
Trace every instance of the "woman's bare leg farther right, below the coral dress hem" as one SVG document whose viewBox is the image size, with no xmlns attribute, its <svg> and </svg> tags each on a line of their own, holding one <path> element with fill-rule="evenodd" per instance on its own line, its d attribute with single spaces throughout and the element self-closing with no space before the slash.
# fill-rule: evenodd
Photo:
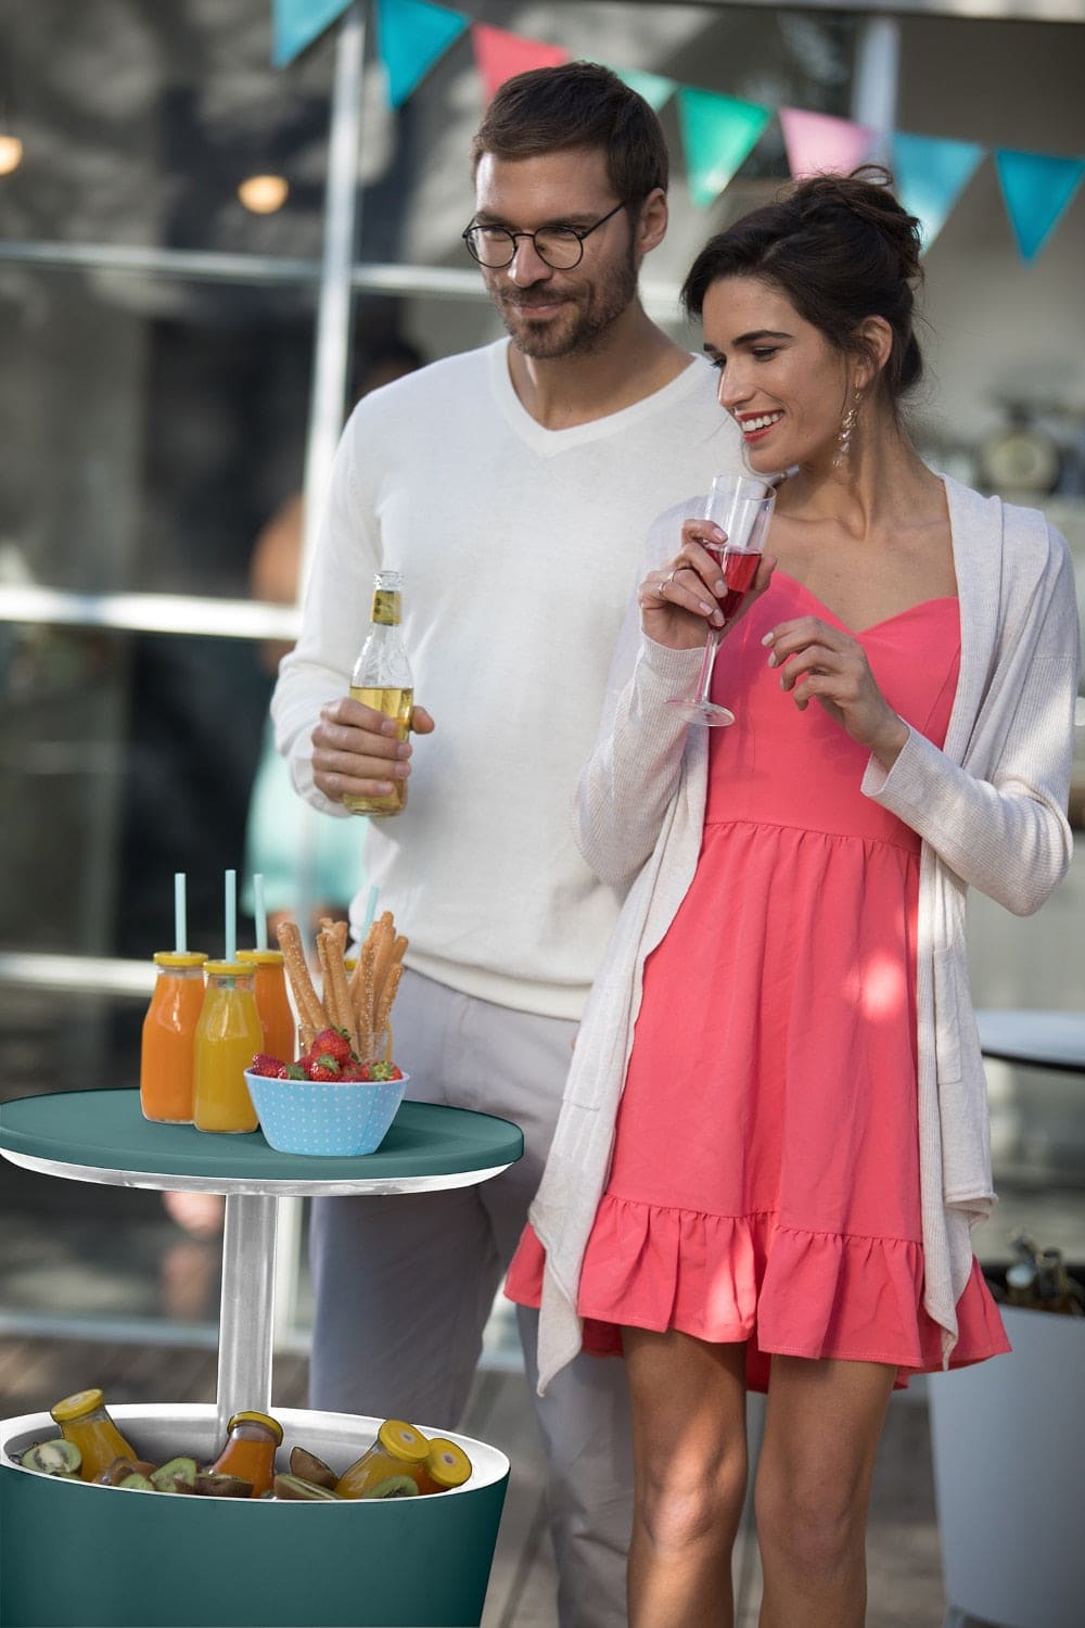
<svg viewBox="0 0 1085 1628">
<path fill-rule="evenodd" d="M 870 1478 L 895 1377 L 882 1363 L 773 1358 L 755 1490 L 761 1628 L 862 1628 Z"/>
</svg>

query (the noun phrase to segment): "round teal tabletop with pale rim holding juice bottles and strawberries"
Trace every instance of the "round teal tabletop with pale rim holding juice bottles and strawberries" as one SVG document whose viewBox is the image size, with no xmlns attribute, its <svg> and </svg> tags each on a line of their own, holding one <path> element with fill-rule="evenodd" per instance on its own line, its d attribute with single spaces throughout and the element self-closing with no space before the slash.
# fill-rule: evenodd
<svg viewBox="0 0 1085 1628">
<path fill-rule="evenodd" d="M 483 1182 L 524 1153 L 517 1125 L 468 1109 L 402 1102 L 376 1153 L 325 1159 L 143 1118 L 140 1092 L 59 1091 L 0 1104 L 0 1154 L 47 1175 L 216 1193 L 402 1193 Z"/>
</svg>

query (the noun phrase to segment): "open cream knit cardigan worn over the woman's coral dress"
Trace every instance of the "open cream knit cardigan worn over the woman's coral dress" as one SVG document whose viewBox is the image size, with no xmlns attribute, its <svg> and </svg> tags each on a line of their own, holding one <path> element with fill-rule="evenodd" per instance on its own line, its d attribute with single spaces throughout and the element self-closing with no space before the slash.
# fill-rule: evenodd
<svg viewBox="0 0 1085 1628">
<path fill-rule="evenodd" d="M 956 1301 L 971 1271 L 971 1228 L 996 1201 L 965 895 L 976 886 L 1030 915 L 1065 873 L 1078 620 L 1069 550 L 1043 514 L 981 498 L 950 479 L 945 490 L 961 620 L 945 746 L 939 751 L 913 731 L 888 773 L 869 760 L 862 791 L 922 838 L 916 995 L 924 1306 L 942 1327 L 948 1364 Z M 656 527 L 649 550 L 657 558 L 673 550 L 683 511 Z M 696 868 L 706 731 L 688 729 L 662 703 L 688 687 L 698 661 L 699 651 L 665 650 L 643 638 L 636 620 L 626 624 L 602 736 L 577 791 L 584 858 L 604 881 L 630 891 L 584 1011 L 530 1208 L 547 1250 L 540 1394 L 581 1348 L 581 1260 L 607 1184 L 644 957 Z"/>
</svg>

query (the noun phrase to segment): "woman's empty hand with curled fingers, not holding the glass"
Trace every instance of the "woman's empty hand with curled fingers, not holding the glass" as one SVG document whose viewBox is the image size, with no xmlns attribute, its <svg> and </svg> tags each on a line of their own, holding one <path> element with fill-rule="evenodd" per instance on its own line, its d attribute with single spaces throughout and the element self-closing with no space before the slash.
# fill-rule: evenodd
<svg viewBox="0 0 1085 1628">
<path fill-rule="evenodd" d="M 821 703 L 852 741 L 865 746 L 883 768 L 891 768 L 909 728 L 882 695 L 867 653 L 857 638 L 815 615 L 781 622 L 761 640 L 769 667 L 781 667 L 779 685 L 799 711 Z"/>
</svg>

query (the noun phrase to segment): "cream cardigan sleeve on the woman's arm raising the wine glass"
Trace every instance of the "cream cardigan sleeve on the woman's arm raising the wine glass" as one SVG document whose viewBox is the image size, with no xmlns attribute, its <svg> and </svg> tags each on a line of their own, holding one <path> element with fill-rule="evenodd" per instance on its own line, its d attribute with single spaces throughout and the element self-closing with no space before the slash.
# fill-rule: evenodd
<svg viewBox="0 0 1085 1628">
<path fill-rule="evenodd" d="M 644 547 L 643 571 L 673 554 L 686 516 L 701 500 L 659 516 Z M 641 632 L 630 606 L 610 669 L 604 716 L 573 804 L 576 843 L 600 881 L 628 887 L 662 829 L 682 773 L 688 723 L 665 703 L 693 687 L 701 648 L 669 650 Z"/>
</svg>

